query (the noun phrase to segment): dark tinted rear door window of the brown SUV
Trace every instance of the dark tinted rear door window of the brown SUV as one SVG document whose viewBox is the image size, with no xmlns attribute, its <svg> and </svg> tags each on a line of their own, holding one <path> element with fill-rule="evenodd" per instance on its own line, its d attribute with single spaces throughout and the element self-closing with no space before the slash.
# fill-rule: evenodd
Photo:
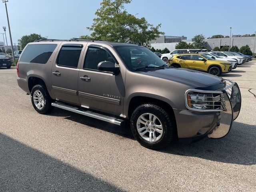
<svg viewBox="0 0 256 192">
<path fill-rule="evenodd" d="M 62 47 L 57 64 L 63 67 L 77 68 L 81 51 L 81 47 Z"/>
</svg>

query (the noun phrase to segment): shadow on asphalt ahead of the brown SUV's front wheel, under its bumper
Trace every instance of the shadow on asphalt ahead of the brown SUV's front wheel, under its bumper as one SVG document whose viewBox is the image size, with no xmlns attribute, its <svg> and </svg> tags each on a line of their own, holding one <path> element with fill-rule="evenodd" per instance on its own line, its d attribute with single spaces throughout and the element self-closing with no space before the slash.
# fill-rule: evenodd
<svg viewBox="0 0 256 192">
<path fill-rule="evenodd" d="M 168 154 L 203 158 L 216 162 L 255 165 L 256 126 L 234 122 L 229 134 L 221 139 L 205 138 L 193 144 L 178 144 L 161 150 Z"/>
</svg>

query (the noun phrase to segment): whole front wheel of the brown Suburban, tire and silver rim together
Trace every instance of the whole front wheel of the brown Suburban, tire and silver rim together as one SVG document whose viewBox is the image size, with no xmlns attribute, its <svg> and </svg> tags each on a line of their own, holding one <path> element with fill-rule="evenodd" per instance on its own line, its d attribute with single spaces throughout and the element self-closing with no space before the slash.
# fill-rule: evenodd
<svg viewBox="0 0 256 192">
<path fill-rule="evenodd" d="M 132 113 L 133 136 L 144 147 L 165 148 L 174 139 L 174 122 L 170 114 L 154 104 L 142 104 Z"/>
</svg>

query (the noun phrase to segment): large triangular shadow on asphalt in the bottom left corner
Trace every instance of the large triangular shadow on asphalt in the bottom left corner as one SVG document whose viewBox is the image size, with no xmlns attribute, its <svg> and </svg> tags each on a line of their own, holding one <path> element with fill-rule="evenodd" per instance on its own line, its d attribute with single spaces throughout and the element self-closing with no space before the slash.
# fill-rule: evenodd
<svg viewBox="0 0 256 192">
<path fill-rule="evenodd" d="M 0 191 L 122 191 L 0 134 Z"/>
</svg>

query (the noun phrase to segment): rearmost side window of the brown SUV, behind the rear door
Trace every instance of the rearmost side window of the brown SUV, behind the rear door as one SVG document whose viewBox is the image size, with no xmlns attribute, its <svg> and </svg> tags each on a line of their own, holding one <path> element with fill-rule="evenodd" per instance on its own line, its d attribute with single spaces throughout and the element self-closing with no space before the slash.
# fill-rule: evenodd
<svg viewBox="0 0 256 192">
<path fill-rule="evenodd" d="M 46 64 L 57 44 L 32 44 L 24 50 L 20 62 Z"/>
</svg>

